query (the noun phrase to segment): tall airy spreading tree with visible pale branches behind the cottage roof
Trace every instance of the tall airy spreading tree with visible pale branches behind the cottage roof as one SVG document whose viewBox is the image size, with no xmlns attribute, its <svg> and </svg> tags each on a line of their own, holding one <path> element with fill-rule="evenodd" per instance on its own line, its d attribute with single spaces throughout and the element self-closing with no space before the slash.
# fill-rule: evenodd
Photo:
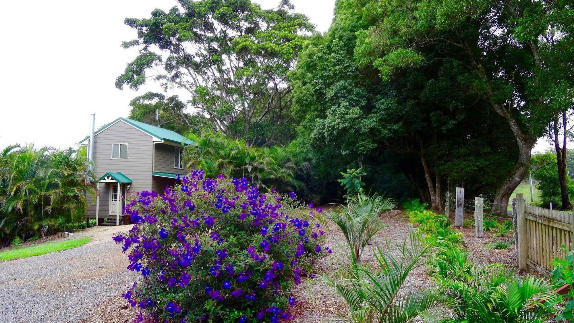
<svg viewBox="0 0 574 323">
<path fill-rule="evenodd" d="M 166 118 L 171 115 L 180 123 L 191 117 L 181 107 L 197 109 L 214 131 L 248 138 L 248 145 L 260 139 L 249 136 L 255 124 L 281 126 L 288 120 L 292 88 L 286 75 L 312 33 L 308 18 L 293 13 L 288 0 L 276 10 L 262 10 L 250 0 L 178 3 L 167 12 L 154 10 L 149 18 L 125 20 L 138 38 L 123 46 L 137 46 L 139 55 L 117 78 L 116 86 L 138 89 L 152 79 L 165 90 L 178 88 L 185 98 L 172 97 L 169 102 L 148 94 L 136 103 L 147 108 L 148 118 L 149 106 L 142 103 L 166 103 L 160 104 L 169 112 Z M 197 123 L 186 123 L 192 124 Z"/>
</svg>

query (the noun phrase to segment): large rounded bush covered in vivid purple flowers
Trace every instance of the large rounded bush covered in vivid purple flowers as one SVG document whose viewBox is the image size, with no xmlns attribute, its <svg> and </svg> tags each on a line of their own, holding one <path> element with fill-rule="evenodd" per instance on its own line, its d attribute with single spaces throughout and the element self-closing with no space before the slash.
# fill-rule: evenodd
<svg viewBox="0 0 574 323">
<path fill-rule="evenodd" d="M 290 287 L 324 252 L 324 232 L 294 194 L 260 194 L 246 178 L 182 177 L 160 195 L 126 204 L 135 223 L 114 237 L 139 271 L 123 297 L 137 321 L 277 322 L 290 318 Z"/>
</svg>

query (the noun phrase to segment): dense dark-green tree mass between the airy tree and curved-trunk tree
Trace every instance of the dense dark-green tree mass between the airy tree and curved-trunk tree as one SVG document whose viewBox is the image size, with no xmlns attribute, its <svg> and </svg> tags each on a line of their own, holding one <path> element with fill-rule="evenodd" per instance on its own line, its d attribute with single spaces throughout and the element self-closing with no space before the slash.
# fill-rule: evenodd
<svg viewBox="0 0 574 323">
<path fill-rule="evenodd" d="M 494 194 L 517 155 L 512 133 L 458 84 L 464 67 L 455 61 L 429 60 L 383 80 L 365 44 L 379 28 L 376 3 L 338 1 L 329 32 L 308 42 L 291 72 L 302 147 L 333 177 L 362 164 L 370 188 L 418 193 L 433 208 L 448 185 Z"/>
</svg>

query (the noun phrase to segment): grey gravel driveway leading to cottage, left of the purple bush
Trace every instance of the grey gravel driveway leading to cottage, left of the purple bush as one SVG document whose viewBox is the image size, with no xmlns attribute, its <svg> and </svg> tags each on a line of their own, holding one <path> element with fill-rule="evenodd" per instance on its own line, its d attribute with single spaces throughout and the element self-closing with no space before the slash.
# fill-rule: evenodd
<svg viewBox="0 0 574 323">
<path fill-rule="evenodd" d="M 121 297 L 139 278 L 111 237 L 121 227 L 94 227 L 71 250 L 0 262 L 0 322 L 125 322 L 133 309 Z"/>
</svg>

